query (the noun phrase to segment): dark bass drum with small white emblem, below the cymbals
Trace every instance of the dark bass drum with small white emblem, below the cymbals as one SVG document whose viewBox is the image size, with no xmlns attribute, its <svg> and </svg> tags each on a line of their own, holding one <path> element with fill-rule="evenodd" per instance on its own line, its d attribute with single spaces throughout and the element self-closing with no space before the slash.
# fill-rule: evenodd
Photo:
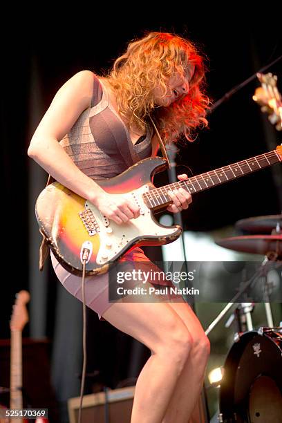
<svg viewBox="0 0 282 423">
<path fill-rule="evenodd" d="M 282 422 L 282 328 L 244 332 L 229 350 L 219 422 Z"/>
</svg>

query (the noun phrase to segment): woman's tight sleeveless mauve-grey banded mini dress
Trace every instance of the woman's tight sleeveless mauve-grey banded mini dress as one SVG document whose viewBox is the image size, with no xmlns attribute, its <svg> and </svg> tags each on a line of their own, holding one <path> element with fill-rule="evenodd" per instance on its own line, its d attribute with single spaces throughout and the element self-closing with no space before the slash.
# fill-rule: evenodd
<svg viewBox="0 0 282 423">
<path fill-rule="evenodd" d="M 150 157 L 152 135 L 153 131 L 148 125 L 146 135 L 142 135 L 133 145 L 126 125 L 111 105 L 103 82 L 93 73 L 91 106 L 82 112 L 60 144 L 82 172 L 98 180 L 113 178 L 132 164 Z M 50 256 L 59 281 L 68 292 L 82 301 L 82 278 L 65 270 L 52 251 Z M 143 265 L 147 263 L 148 270 L 160 271 L 140 247 L 126 252 L 121 260 L 126 263 L 142 262 Z M 153 284 L 153 281 L 150 282 Z M 131 287 L 140 283 L 142 281 L 132 281 Z M 167 281 L 165 285 L 172 286 Z M 86 277 L 85 297 L 86 306 L 97 312 L 100 320 L 104 320 L 102 314 L 113 305 L 113 302 L 109 302 L 109 274 Z M 166 299 L 170 301 L 179 297 L 169 294 Z"/>
</svg>

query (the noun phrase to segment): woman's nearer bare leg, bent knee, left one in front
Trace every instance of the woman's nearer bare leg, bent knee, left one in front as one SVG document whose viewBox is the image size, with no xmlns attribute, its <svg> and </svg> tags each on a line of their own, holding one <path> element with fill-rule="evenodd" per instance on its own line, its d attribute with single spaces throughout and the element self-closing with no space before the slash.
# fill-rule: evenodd
<svg viewBox="0 0 282 423">
<path fill-rule="evenodd" d="M 103 317 L 151 349 L 135 386 L 131 423 L 161 423 L 192 348 L 187 326 L 169 303 L 160 302 L 114 303 Z"/>
</svg>

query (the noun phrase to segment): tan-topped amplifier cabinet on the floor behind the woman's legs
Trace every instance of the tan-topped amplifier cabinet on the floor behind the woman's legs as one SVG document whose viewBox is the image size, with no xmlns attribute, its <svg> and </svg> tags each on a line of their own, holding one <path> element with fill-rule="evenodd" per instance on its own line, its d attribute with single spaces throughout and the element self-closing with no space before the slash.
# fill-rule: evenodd
<svg viewBox="0 0 282 423">
<path fill-rule="evenodd" d="M 135 386 L 120 389 L 109 389 L 104 392 L 84 395 L 82 402 L 82 423 L 105 423 L 106 408 L 111 423 L 130 423 Z M 70 423 L 78 422 L 79 397 L 68 400 L 68 416 Z"/>
</svg>

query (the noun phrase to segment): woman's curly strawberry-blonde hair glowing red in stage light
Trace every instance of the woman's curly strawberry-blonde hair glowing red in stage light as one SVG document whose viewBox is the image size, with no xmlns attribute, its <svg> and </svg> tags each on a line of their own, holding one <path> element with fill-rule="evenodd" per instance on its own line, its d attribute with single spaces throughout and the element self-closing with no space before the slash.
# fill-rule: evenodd
<svg viewBox="0 0 282 423">
<path fill-rule="evenodd" d="M 153 88 L 158 84 L 162 95 L 169 91 L 173 75 L 185 77 L 187 67 L 195 66 L 185 97 L 167 107 L 156 107 Z M 129 43 L 107 76 L 115 91 L 118 110 L 129 126 L 144 131 L 148 116 L 156 122 L 164 143 L 183 135 L 193 141 L 198 126 L 207 126 L 209 98 L 205 95 L 205 67 L 191 41 L 168 32 L 149 32 L 142 39 Z"/>
</svg>

